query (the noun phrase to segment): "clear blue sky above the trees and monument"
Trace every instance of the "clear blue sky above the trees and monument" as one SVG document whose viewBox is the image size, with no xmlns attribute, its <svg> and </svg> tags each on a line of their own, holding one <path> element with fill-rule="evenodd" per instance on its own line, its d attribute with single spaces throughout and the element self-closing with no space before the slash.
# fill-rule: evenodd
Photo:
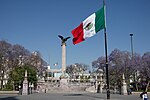
<svg viewBox="0 0 150 100">
<path fill-rule="evenodd" d="M 105 56 L 104 31 L 73 45 L 71 31 L 103 6 L 102 0 L 0 0 L 0 40 L 20 44 L 30 52 L 39 51 L 51 67 L 61 67 L 61 41 L 66 43 L 67 65 Z M 150 0 L 106 0 L 108 55 L 116 48 L 150 51 Z"/>
</svg>

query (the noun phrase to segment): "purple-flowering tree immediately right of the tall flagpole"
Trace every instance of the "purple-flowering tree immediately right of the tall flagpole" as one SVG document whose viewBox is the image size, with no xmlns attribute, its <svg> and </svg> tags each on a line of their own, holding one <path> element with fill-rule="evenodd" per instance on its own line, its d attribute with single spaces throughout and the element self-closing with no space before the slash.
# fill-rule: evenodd
<svg viewBox="0 0 150 100">
<path fill-rule="evenodd" d="M 130 77 L 134 72 L 133 66 L 131 66 L 131 55 L 128 51 L 120 51 L 119 49 L 115 49 L 109 55 L 109 59 L 111 62 L 111 70 L 113 75 L 116 75 L 118 78 L 118 85 L 121 85 L 122 75 L 125 75 L 125 79 L 127 84 L 130 83 Z M 112 77 L 113 78 L 113 77 Z M 117 82 L 118 82 L 117 81 Z"/>
</svg>

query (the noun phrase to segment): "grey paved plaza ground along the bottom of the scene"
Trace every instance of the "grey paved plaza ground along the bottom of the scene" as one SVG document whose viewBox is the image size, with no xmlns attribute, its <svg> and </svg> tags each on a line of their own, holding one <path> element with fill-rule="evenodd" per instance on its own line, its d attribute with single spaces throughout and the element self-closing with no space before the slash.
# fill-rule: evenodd
<svg viewBox="0 0 150 100">
<path fill-rule="evenodd" d="M 0 100 L 107 100 L 100 93 L 35 93 L 31 95 L 0 95 Z M 111 94 L 110 100 L 142 100 L 139 94 Z"/>
</svg>

